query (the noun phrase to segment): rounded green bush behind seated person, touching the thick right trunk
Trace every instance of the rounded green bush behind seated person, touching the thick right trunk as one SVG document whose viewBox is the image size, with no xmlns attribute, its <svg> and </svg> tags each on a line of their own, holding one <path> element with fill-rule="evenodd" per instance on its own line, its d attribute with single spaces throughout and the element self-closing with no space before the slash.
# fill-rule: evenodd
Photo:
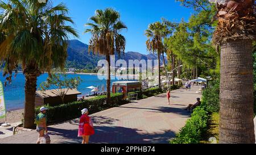
<svg viewBox="0 0 256 155">
<path fill-rule="evenodd" d="M 208 112 L 220 111 L 220 81 L 210 81 L 208 87 L 203 91 L 202 105 Z"/>
</svg>

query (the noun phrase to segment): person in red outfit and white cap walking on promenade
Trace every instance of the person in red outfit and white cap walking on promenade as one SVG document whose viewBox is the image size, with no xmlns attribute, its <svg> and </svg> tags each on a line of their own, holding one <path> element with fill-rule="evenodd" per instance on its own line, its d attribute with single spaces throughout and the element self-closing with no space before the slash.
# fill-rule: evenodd
<svg viewBox="0 0 256 155">
<path fill-rule="evenodd" d="M 81 112 L 78 136 L 82 137 L 82 144 L 89 144 L 89 137 L 94 134 L 93 123 L 92 119 L 88 116 L 88 109 L 84 108 Z"/>
</svg>

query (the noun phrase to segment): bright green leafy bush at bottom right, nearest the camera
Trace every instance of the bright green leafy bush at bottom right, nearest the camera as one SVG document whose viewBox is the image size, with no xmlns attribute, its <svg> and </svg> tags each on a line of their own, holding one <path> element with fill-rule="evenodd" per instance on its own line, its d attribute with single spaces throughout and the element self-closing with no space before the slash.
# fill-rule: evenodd
<svg viewBox="0 0 256 155">
<path fill-rule="evenodd" d="M 171 140 L 171 144 L 197 144 L 200 143 L 201 135 L 207 132 L 207 123 L 209 115 L 204 107 L 197 107 L 192 113 L 191 119 L 187 120 L 187 123 L 180 132 L 176 135 L 176 138 Z"/>
</svg>

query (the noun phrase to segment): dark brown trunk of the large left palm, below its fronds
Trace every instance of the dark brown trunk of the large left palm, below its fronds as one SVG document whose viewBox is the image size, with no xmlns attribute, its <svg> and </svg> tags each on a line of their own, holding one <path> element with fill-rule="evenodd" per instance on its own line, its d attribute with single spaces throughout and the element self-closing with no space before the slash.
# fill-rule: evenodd
<svg viewBox="0 0 256 155">
<path fill-rule="evenodd" d="M 33 128 L 35 126 L 35 93 L 36 81 L 40 75 L 39 70 L 25 70 L 25 108 L 24 108 L 24 128 Z"/>
</svg>

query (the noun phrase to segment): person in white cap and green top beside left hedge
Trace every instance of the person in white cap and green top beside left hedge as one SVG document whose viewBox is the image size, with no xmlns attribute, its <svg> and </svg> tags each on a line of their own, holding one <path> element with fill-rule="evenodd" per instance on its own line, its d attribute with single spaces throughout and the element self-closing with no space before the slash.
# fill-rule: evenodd
<svg viewBox="0 0 256 155">
<path fill-rule="evenodd" d="M 44 137 L 44 133 L 47 133 L 47 119 L 46 119 L 46 107 L 40 108 L 40 113 L 36 116 L 35 124 L 36 124 L 36 131 L 39 133 L 38 141 L 36 144 L 40 144 L 40 141 Z"/>
</svg>

